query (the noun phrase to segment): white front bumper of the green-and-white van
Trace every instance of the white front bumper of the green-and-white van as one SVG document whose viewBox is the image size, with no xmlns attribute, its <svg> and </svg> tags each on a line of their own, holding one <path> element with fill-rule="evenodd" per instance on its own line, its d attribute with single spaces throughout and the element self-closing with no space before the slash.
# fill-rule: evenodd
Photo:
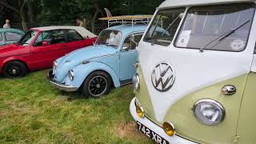
<svg viewBox="0 0 256 144">
<path fill-rule="evenodd" d="M 176 144 L 176 143 L 177 144 L 195 144 L 194 142 L 186 140 L 185 138 L 181 138 L 178 135 L 174 135 L 173 137 L 170 137 L 164 132 L 164 130 L 162 130 L 162 127 L 156 125 L 154 122 L 151 122 L 150 119 L 146 117 L 139 118 L 136 113 L 135 101 L 136 101 L 136 98 L 133 98 L 133 100 L 130 102 L 130 114 L 133 116 L 135 121 L 140 122 L 142 123 L 142 125 L 146 126 L 150 130 L 153 130 L 154 133 L 158 134 L 162 138 L 165 138 L 171 144 Z"/>
</svg>

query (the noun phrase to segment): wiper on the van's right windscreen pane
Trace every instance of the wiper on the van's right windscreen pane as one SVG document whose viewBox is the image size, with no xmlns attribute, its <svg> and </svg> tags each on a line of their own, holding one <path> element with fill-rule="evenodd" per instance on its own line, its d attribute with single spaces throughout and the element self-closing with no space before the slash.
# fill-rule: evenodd
<svg viewBox="0 0 256 144">
<path fill-rule="evenodd" d="M 200 52 L 203 52 L 204 49 L 206 49 L 207 46 L 209 46 L 211 43 L 215 42 L 218 40 L 219 42 L 222 42 L 223 39 L 225 39 L 226 37 L 230 36 L 230 34 L 233 34 L 236 30 L 240 29 L 242 26 L 245 26 L 246 23 L 250 22 L 250 19 L 248 19 L 246 22 L 243 22 L 241 25 L 234 27 L 233 29 L 231 29 L 230 31 L 228 31 L 226 34 L 222 34 L 221 36 L 219 36 L 218 38 L 215 38 L 214 40 L 210 41 L 209 43 L 206 44 L 206 46 L 203 46 L 200 49 Z"/>
</svg>

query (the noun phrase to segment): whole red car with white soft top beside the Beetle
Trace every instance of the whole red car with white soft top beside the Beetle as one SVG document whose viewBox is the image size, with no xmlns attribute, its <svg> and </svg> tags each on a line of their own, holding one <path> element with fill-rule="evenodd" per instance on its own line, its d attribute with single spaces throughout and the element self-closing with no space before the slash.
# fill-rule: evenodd
<svg viewBox="0 0 256 144">
<path fill-rule="evenodd" d="M 28 71 L 51 67 L 55 59 L 93 45 L 96 37 L 78 26 L 32 28 L 19 42 L 0 46 L 0 74 L 15 78 L 25 76 Z"/>
</svg>

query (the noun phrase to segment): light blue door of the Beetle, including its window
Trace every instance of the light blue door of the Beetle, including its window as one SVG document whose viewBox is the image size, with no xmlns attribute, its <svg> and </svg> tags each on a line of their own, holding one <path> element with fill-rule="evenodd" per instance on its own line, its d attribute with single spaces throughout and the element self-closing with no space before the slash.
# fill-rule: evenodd
<svg viewBox="0 0 256 144">
<path fill-rule="evenodd" d="M 121 82 L 130 82 L 135 74 L 134 64 L 138 61 L 136 47 L 142 38 L 140 34 L 130 34 L 126 37 L 119 53 L 119 74 Z"/>
</svg>

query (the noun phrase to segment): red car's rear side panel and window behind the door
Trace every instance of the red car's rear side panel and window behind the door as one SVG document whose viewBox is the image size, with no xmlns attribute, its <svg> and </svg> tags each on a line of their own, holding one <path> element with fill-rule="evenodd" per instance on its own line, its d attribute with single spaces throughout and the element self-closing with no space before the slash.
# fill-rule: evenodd
<svg viewBox="0 0 256 144">
<path fill-rule="evenodd" d="M 91 43 L 86 42 L 85 38 L 82 38 L 76 30 L 66 30 L 66 38 L 68 46 L 66 53 L 91 45 Z"/>
</svg>

